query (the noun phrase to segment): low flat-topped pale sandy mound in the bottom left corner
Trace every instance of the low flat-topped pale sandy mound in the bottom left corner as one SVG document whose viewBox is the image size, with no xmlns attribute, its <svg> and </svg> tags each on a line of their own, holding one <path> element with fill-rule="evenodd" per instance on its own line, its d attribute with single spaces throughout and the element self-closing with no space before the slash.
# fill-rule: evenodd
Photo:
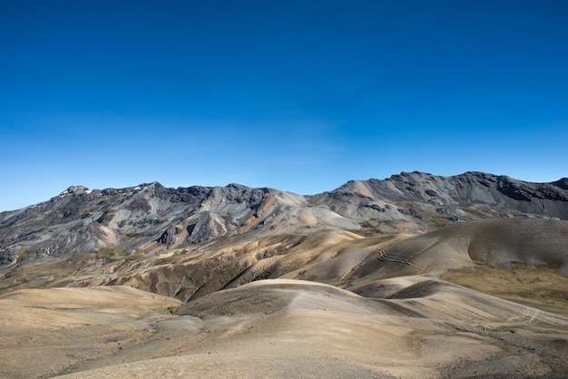
<svg viewBox="0 0 568 379">
<path fill-rule="evenodd" d="M 177 300 L 131 287 L 24 289 L 0 296 L 0 377 L 49 376 L 152 335 Z"/>
</svg>

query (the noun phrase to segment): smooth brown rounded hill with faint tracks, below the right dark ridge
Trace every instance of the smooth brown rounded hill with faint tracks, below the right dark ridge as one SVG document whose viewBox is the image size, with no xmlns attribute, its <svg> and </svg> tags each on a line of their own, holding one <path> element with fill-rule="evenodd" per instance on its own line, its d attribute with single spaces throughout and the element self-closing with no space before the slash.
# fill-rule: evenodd
<svg viewBox="0 0 568 379">
<path fill-rule="evenodd" d="M 568 222 L 549 219 L 485 219 L 408 238 L 384 248 L 349 274 L 359 285 L 387 277 L 428 275 L 484 264 L 535 267 L 551 264 L 568 274 Z"/>
</svg>

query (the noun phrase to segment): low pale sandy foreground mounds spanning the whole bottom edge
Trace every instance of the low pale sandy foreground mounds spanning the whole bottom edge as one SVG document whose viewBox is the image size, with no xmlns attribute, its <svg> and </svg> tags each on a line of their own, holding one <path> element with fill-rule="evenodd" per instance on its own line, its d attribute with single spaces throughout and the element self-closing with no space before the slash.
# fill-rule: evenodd
<svg viewBox="0 0 568 379">
<path fill-rule="evenodd" d="M 173 315 L 164 310 L 168 299 L 123 287 L 73 288 L 81 308 L 54 301 L 58 291 L 24 290 L 0 299 L 0 309 L 13 306 L 22 320 L 56 314 L 44 326 L 3 326 L 12 333 L 3 339 L 3 361 L 27 364 L 4 365 L 1 375 L 561 377 L 568 369 L 568 318 L 438 280 L 399 280 L 412 285 L 383 299 L 313 282 L 263 280 L 203 296 Z M 100 291 L 109 302 L 98 302 Z"/>
</svg>

